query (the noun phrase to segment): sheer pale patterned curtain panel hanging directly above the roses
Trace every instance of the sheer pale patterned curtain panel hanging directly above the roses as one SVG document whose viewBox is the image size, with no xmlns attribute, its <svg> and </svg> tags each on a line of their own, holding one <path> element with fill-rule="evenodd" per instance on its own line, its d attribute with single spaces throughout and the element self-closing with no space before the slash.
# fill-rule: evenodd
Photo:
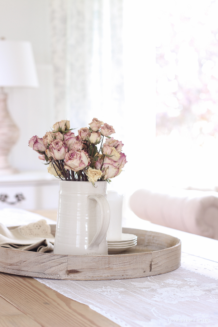
<svg viewBox="0 0 218 327">
<path fill-rule="evenodd" d="M 123 1 L 53 0 L 50 6 L 57 119 L 67 116 L 80 128 L 93 115 L 122 117 Z"/>
</svg>

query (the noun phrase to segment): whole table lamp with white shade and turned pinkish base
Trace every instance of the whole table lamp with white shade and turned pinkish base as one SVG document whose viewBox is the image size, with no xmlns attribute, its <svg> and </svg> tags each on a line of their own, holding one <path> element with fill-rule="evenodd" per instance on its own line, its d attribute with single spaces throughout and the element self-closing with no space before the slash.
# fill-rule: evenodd
<svg viewBox="0 0 218 327">
<path fill-rule="evenodd" d="M 4 87 L 38 87 L 32 46 L 25 41 L 0 40 L 0 175 L 13 174 L 8 154 L 16 143 L 19 129 L 7 109 Z"/>
</svg>

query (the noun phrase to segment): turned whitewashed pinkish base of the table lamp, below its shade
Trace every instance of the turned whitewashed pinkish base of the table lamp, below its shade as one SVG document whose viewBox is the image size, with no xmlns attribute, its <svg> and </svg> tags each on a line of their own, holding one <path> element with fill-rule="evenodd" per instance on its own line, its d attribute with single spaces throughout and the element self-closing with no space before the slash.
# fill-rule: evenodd
<svg viewBox="0 0 218 327">
<path fill-rule="evenodd" d="M 8 155 L 18 137 L 19 129 L 7 109 L 7 94 L 0 92 L 0 175 L 10 175 L 17 172 L 8 163 Z"/>
</svg>

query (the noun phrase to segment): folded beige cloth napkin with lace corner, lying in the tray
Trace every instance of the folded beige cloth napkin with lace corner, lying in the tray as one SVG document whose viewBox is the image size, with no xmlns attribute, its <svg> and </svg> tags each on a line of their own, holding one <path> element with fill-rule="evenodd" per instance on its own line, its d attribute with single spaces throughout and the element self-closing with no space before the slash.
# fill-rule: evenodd
<svg viewBox="0 0 218 327">
<path fill-rule="evenodd" d="M 0 246 L 17 250 L 53 250 L 55 238 L 45 219 L 9 230 L 0 223 Z"/>
</svg>

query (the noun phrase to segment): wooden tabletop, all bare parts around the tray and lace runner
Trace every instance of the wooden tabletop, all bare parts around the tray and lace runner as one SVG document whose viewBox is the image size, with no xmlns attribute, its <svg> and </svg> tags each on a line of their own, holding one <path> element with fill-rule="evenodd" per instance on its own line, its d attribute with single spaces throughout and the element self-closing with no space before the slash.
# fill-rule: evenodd
<svg viewBox="0 0 218 327">
<path fill-rule="evenodd" d="M 57 217 L 56 210 L 34 212 L 53 220 Z M 137 217 L 128 225 L 124 221 L 124 226 L 176 236 L 182 241 L 183 252 L 218 262 L 217 240 L 151 224 Z M 0 308 L 0 327 L 118 327 L 87 305 L 25 276 L 0 273 Z"/>
</svg>

